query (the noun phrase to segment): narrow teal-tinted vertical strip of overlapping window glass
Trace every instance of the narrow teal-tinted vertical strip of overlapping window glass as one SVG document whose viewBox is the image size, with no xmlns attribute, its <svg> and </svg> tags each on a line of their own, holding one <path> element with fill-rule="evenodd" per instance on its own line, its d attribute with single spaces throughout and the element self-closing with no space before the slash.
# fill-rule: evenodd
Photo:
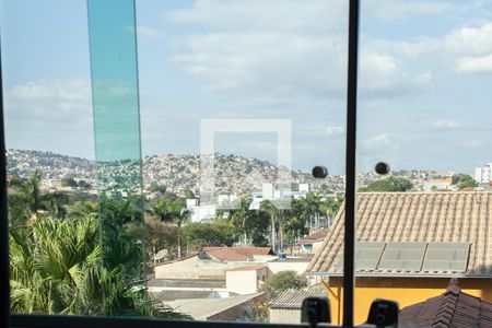
<svg viewBox="0 0 492 328">
<path fill-rule="evenodd" d="M 153 315 L 144 273 L 132 0 L 87 1 L 104 315 Z M 159 314 L 159 313 L 155 313 Z"/>
</svg>

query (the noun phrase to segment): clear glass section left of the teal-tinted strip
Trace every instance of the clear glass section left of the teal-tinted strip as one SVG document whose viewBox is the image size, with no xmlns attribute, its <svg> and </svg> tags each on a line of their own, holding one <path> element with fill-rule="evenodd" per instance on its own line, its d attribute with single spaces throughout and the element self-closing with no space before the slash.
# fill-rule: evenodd
<svg viewBox="0 0 492 328">
<path fill-rule="evenodd" d="M 13 313 L 103 313 L 85 8 L 1 2 Z"/>
</svg>

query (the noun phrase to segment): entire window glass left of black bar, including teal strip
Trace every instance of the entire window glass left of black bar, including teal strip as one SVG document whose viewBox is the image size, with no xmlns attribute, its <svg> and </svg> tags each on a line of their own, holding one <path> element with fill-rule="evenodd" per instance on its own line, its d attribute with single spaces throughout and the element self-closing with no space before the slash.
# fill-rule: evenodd
<svg viewBox="0 0 492 328">
<path fill-rule="evenodd" d="M 347 19 L 2 1 L 12 311 L 340 323 Z"/>
</svg>

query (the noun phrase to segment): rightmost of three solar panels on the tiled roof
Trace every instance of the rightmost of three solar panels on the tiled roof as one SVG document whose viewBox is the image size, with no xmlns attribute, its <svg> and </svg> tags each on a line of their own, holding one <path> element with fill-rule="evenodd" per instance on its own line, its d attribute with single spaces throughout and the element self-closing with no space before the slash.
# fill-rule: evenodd
<svg viewBox="0 0 492 328">
<path fill-rule="evenodd" d="M 469 250 L 469 243 L 429 243 L 422 270 L 465 272 Z"/>
</svg>

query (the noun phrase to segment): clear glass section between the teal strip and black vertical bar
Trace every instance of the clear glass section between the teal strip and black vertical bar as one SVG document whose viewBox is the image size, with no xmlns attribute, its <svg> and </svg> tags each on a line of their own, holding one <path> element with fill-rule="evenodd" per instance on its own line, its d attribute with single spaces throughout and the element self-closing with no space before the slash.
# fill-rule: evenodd
<svg viewBox="0 0 492 328">
<path fill-rule="evenodd" d="M 344 192 L 348 3 L 144 0 L 137 21 L 149 291 L 300 323 Z"/>
</svg>

